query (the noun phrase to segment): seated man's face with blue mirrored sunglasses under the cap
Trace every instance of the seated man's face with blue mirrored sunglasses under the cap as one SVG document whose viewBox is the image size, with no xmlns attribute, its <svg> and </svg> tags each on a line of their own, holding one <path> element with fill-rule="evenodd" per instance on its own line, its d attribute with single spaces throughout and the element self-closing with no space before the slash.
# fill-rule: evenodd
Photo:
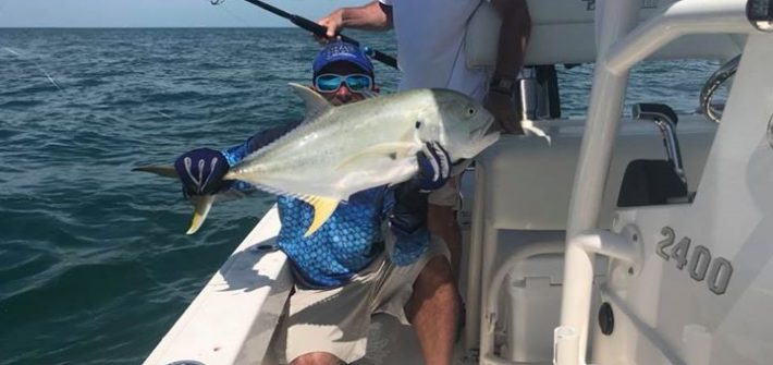
<svg viewBox="0 0 773 365">
<path fill-rule="evenodd" d="M 368 74 L 356 64 L 345 61 L 333 62 L 319 72 L 315 78 L 314 89 L 334 106 L 359 101 L 365 99 L 365 95 L 361 93 L 363 89 L 357 89 L 366 84 L 366 77 L 361 76 L 368 76 Z M 372 77 L 367 81 L 368 85 L 364 90 L 377 92 Z M 320 87 L 323 83 L 328 87 Z M 333 89 L 334 87 L 338 88 Z"/>
</svg>

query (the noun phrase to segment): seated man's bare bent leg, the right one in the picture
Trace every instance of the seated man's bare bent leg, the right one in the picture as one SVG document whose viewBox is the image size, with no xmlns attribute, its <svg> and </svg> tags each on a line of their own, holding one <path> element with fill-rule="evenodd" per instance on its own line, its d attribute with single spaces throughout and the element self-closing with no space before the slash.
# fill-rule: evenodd
<svg viewBox="0 0 773 365">
<path fill-rule="evenodd" d="M 433 257 L 414 282 L 408 316 L 421 344 L 425 363 L 450 365 L 458 316 L 458 294 L 449 260 Z"/>
</svg>

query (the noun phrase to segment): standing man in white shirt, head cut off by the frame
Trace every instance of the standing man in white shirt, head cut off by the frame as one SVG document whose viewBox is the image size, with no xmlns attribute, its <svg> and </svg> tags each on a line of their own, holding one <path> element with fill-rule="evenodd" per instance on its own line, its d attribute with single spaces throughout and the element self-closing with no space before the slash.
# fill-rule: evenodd
<svg viewBox="0 0 773 365">
<path fill-rule="evenodd" d="M 501 16 L 502 25 L 490 83 L 488 70 L 467 68 L 469 54 L 465 53 L 464 45 L 468 20 L 481 0 L 378 0 L 359 8 L 334 10 L 318 23 L 328 28 L 329 38 L 343 28 L 394 28 L 397 62 L 403 72 L 401 90 L 450 88 L 478 101 L 486 100 L 486 108 L 496 118 L 502 130 L 523 134 L 513 95 L 517 86 L 516 76 L 524 62 L 531 20 L 526 0 L 491 0 L 491 3 Z M 449 245 L 454 276 L 458 276 L 462 256 L 462 236 L 455 214 L 457 185 L 457 179 L 451 180 L 429 198 L 430 231 L 443 238 Z"/>
</svg>

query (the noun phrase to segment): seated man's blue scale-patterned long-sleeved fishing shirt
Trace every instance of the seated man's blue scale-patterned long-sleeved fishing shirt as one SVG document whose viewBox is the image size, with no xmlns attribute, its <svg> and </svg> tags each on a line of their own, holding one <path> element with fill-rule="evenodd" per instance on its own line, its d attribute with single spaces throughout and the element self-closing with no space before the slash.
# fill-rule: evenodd
<svg viewBox="0 0 773 365">
<path fill-rule="evenodd" d="M 251 151 L 275 141 L 298 123 L 260 132 L 242 145 L 223 150 L 234 166 Z M 254 190 L 245 182 L 232 184 L 235 190 Z M 319 230 L 308 238 L 304 233 L 314 217 L 306 202 L 280 196 L 279 217 L 282 228 L 279 247 L 292 263 L 296 282 L 307 288 L 335 288 L 345 284 L 359 270 L 384 252 L 382 222 L 396 204 L 394 188 L 372 187 L 353 194 L 342 202 Z M 424 217 L 420 217 L 424 220 Z M 397 266 L 409 265 L 427 251 L 429 232 L 426 224 L 410 233 L 395 234 L 390 259 Z"/>
</svg>

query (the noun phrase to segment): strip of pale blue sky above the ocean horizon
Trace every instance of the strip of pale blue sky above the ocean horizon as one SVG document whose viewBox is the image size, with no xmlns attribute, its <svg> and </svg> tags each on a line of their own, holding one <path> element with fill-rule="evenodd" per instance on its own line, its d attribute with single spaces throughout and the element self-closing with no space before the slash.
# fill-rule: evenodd
<svg viewBox="0 0 773 365">
<path fill-rule="evenodd" d="M 368 0 L 265 0 L 317 20 Z M 292 26 L 244 0 L 0 0 L 0 27 Z"/>
</svg>

